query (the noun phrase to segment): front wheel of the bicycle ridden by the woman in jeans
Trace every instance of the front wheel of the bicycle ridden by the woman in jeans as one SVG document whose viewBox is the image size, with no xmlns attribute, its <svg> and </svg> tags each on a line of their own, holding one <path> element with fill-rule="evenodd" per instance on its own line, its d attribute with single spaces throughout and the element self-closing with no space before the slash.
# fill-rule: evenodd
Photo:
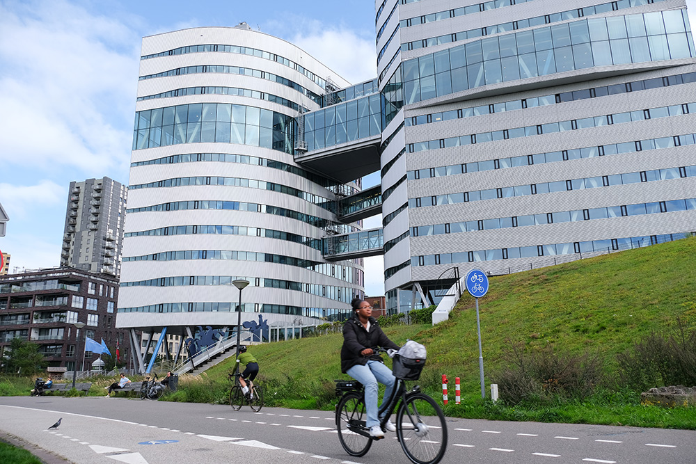
<svg viewBox="0 0 696 464">
<path fill-rule="evenodd" d="M 416 464 L 440 462 L 447 448 L 445 415 L 434 399 L 411 394 L 399 405 L 396 433 L 401 447 Z"/>
</svg>

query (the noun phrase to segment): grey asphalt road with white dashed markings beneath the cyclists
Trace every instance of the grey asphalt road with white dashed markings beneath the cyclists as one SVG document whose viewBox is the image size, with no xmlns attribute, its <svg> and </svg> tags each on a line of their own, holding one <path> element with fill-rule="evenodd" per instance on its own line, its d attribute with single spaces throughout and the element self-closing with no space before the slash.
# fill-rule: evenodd
<svg viewBox="0 0 696 464">
<path fill-rule="evenodd" d="M 47 427 L 63 418 L 57 430 Z M 395 438 L 349 456 L 333 412 L 101 397 L 0 397 L 0 432 L 51 463 L 408 463 Z M 448 418 L 445 464 L 694 464 L 696 431 Z"/>
</svg>

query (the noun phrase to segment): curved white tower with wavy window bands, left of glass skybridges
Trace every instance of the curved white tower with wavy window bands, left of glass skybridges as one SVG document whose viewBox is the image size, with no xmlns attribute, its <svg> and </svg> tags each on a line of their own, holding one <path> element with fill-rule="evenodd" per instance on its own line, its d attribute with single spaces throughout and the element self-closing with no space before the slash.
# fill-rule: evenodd
<svg viewBox="0 0 696 464">
<path fill-rule="evenodd" d="M 326 261 L 322 237 L 358 230 L 333 207 L 359 179 L 303 168 L 293 154 L 298 115 L 348 85 L 246 24 L 143 39 L 119 327 L 154 328 L 159 340 L 206 326 L 230 334 L 234 280 L 251 283 L 247 326 L 299 330 L 347 312 L 362 260 Z"/>
</svg>

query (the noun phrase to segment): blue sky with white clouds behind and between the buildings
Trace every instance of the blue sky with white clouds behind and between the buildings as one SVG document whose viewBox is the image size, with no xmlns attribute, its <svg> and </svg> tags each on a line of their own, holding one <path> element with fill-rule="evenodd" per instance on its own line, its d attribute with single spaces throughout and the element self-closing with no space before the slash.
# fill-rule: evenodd
<svg viewBox="0 0 696 464">
<path fill-rule="evenodd" d="M 143 36 L 242 21 L 353 83 L 377 74 L 367 0 L 0 0 L 0 203 L 10 217 L 0 250 L 10 272 L 59 264 L 71 181 L 128 184 Z M 383 260 L 365 261 L 367 294 L 383 294 Z"/>
</svg>

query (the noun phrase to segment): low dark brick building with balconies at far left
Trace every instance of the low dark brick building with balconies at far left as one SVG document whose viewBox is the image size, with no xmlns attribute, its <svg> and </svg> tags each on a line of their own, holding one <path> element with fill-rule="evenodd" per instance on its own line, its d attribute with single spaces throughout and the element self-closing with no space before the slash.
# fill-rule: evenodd
<svg viewBox="0 0 696 464">
<path fill-rule="evenodd" d="M 116 344 L 127 360 L 129 341 L 116 329 L 118 280 L 72 268 L 42 269 L 0 277 L 0 353 L 14 338 L 39 345 L 50 371 L 81 370 L 85 337 L 104 339 L 112 355 Z M 77 328 L 74 323 L 83 323 Z M 97 360 L 86 353 L 85 370 Z M 132 366 L 132 361 L 128 362 Z M 62 368 L 62 369 L 61 369 Z"/>
</svg>

